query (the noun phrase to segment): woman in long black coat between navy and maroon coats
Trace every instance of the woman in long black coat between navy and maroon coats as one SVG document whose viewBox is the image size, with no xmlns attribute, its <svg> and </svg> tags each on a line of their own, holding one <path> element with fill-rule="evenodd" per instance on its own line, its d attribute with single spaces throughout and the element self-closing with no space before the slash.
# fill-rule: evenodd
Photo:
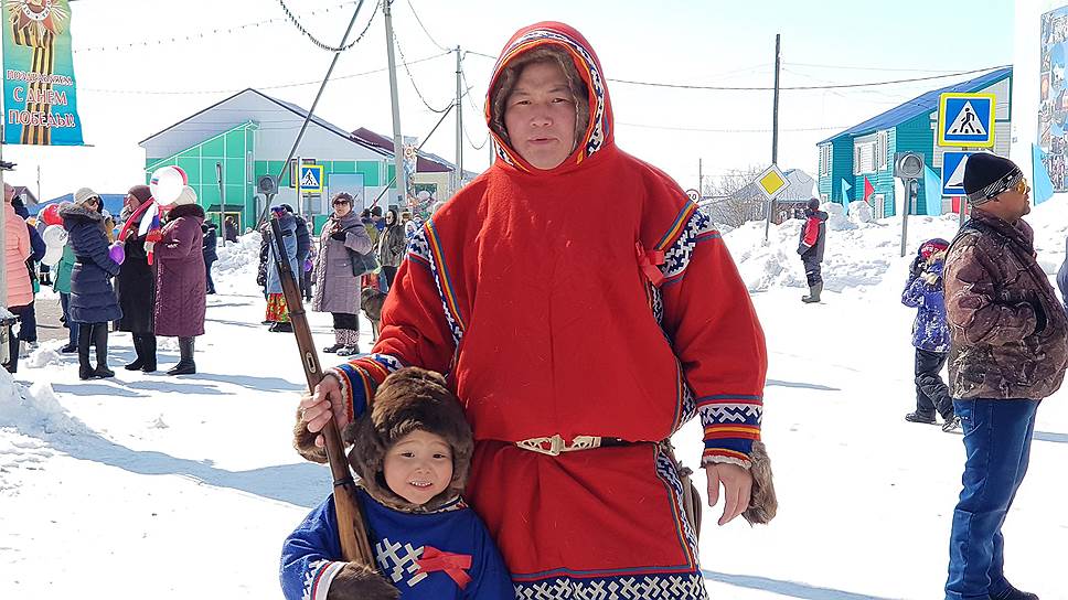
<svg viewBox="0 0 1068 600">
<path fill-rule="evenodd" d="M 141 204 L 152 199 L 148 185 L 135 185 L 126 194 L 122 206 L 122 221 Z M 119 331 L 134 334 L 134 352 L 137 358 L 126 365 L 127 371 L 156 371 L 156 328 L 152 313 L 156 311 L 156 267 L 148 264 L 148 253 L 145 250 L 145 235 L 137 235 L 138 226 L 143 215 L 137 215 L 135 221 L 126 227 L 124 243 L 126 260 L 118 277 L 119 307 L 122 319 L 119 320 Z"/>
</svg>

